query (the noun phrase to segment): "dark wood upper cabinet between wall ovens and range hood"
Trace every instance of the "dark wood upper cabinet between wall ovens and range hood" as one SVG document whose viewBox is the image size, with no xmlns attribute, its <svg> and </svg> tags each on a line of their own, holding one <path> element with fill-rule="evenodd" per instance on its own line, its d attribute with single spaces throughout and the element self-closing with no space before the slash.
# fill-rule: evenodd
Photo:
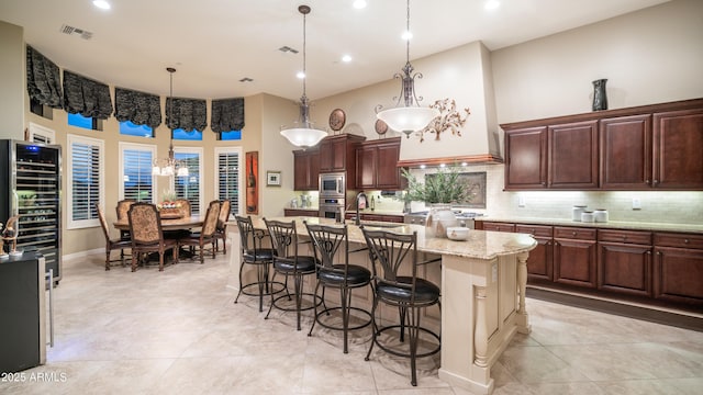
<svg viewBox="0 0 703 395">
<path fill-rule="evenodd" d="M 398 167 L 400 137 L 361 143 L 356 149 L 356 188 L 402 190 L 405 179 Z"/>
</svg>

